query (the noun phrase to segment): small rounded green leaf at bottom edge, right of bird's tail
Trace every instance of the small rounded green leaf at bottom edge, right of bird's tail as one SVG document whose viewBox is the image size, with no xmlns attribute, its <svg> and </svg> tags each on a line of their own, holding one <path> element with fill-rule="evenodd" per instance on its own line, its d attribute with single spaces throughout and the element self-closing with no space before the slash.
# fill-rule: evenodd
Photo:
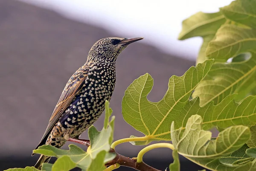
<svg viewBox="0 0 256 171">
<path fill-rule="evenodd" d="M 71 169 L 76 167 L 76 163 L 74 163 L 70 157 L 62 156 L 59 157 L 56 162 L 52 165 L 52 171 L 70 171 Z"/>
</svg>

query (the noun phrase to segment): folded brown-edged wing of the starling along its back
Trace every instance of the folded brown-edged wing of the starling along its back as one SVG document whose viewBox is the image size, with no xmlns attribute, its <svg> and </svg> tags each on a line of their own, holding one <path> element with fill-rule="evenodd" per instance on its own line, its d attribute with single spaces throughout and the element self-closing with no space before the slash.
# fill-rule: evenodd
<svg viewBox="0 0 256 171">
<path fill-rule="evenodd" d="M 87 74 L 89 71 L 89 65 L 84 65 L 79 70 L 77 70 L 69 79 L 67 82 L 64 90 L 61 93 L 61 97 L 58 100 L 57 105 L 55 106 L 55 109 L 52 112 L 52 116 L 49 120 L 49 124 L 45 130 L 44 136 L 42 137 L 38 147 L 40 145 L 43 145 L 48 136 L 49 133 L 52 131 L 52 128 L 58 122 L 58 119 L 60 119 L 63 112 L 67 109 L 67 107 L 70 105 L 71 101 L 74 99 L 74 97 L 80 92 L 83 83 L 85 79 L 87 78 Z M 38 148 L 37 147 L 37 148 Z"/>
</svg>

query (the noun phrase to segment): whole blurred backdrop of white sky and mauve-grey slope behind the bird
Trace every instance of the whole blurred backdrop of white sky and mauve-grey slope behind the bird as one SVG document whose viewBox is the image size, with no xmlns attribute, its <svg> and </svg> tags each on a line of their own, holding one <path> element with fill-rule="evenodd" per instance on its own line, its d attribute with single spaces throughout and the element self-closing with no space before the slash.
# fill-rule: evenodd
<svg viewBox="0 0 256 171">
<path fill-rule="evenodd" d="M 105 37 L 145 38 L 119 55 L 110 103 L 116 116 L 114 139 L 142 136 L 122 119 L 124 91 L 148 72 L 154 78 L 148 99 L 162 99 L 169 78 L 183 75 L 195 65 L 201 46 L 200 38 L 177 41 L 182 20 L 199 11 L 217 12 L 230 2 L 0 0 L 0 170 L 35 164 L 38 155 L 31 157 L 32 150 L 43 136 L 67 80 L 85 63 L 90 47 Z M 95 123 L 96 128 L 102 128 L 103 120 Z M 87 132 L 81 138 L 87 138 Z M 116 151 L 136 157 L 142 148 L 126 143 Z M 172 162 L 171 152 L 156 149 L 143 159 L 165 170 Z M 183 171 L 201 169 L 183 157 L 180 160 Z"/>
</svg>

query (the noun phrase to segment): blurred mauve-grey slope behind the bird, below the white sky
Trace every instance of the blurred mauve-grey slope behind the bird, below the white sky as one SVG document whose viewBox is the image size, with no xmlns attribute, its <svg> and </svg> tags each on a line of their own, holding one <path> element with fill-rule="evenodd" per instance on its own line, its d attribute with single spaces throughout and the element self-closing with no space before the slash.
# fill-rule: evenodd
<svg viewBox="0 0 256 171">
<path fill-rule="evenodd" d="M 67 80 L 85 63 L 90 47 L 101 38 L 115 36 L 126 37 L 20 1 L 0 0 L 1 157 L 30 156 Z M 154 88 L 148 99 L 159 101 L 169 78 L 183 75 L 195 64 L 143 41 L 128 46 L 117 59 L 116 88 L 110 103 L 116 116 L 115 139 L 142 136 L 121 113 L 122 96 L 134 79 L 151 74 Z M 104 116 L 95 123 L 97 128 L 102 128 L 103 120 Z M 82 138 L 87 138 L 87 133 Z M 126 143 L 117 149 L 134 155 L 141 148 Z M 148 157 L 170 157 L 165 151 L 153 151 Z"/>
</svg>

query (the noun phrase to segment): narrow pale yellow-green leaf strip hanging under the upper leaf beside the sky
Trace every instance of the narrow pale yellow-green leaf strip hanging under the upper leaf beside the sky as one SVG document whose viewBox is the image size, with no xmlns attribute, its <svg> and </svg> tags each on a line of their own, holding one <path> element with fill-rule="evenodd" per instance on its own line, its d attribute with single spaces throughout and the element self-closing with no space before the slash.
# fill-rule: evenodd
<svg viewBox="0 0 256 171">
<path fill-rule="evenodd" d="M 205 35 L 203 36 L 203 44 L 201 46 L 201 49 L 198 53 L 198 57 L 196 59 L 196 64 L 203 63 L 208 58 L 205 55 L 205 50 L 209 44 L 209 42 L 214 38 L 215 35 Z"/>
</svg>

